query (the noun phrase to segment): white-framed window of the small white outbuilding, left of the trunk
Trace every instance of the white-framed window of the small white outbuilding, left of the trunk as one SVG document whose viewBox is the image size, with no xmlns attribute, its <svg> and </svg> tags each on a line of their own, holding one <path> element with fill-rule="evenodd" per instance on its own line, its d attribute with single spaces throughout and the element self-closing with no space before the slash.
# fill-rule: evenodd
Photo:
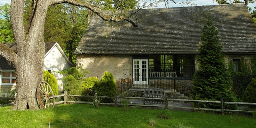
<svg viewBox="0 0 256 128">
<path fill-rule="evenodd" d="M 15 72 L 1 72 L 1 84 L 2 85 L 16 85 L 16 73 Z"/>
</svg>

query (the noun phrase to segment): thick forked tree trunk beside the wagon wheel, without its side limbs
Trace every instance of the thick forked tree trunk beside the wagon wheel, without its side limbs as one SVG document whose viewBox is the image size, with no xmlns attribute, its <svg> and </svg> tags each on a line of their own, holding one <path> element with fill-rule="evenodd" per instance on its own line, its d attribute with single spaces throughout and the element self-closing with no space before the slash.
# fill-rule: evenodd
<svg viewBox="0 0 256 128">
<path fill-rule="evenodd" d="M 14 5 L 15 4 L 15 5 Z M 14 61 L 17 79 L 17 97 L 12 109 L 39 109 L 36 87 L 43 80 L 45 44 L 43 27 L 48 0 L 38 0 L 33 5 L 29 27 L 23 26 L 23 0 L 12 0 L 11 20 L 17 57 Z"/>
</svg>

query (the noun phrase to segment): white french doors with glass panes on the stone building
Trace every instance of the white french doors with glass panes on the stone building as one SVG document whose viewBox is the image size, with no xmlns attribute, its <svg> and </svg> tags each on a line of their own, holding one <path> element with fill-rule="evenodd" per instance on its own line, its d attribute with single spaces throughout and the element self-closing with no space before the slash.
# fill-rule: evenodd
<svg viewBox="0 0 256 128">
<path fill-rule="evenodd" d="M 133 60 L 133 84 L 148 84 L 148 60 Z"/>
</svg>

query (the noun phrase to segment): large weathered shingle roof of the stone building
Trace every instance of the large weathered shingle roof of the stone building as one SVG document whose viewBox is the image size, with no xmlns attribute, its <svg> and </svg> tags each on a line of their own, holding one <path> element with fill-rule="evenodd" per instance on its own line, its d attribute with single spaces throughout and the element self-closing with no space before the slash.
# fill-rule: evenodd
<svg viewBox="0 0 256 128">
<path fill-rule="evenodd" d="M 122 22 L 113 29 L 94 15 L 75 54 L 195 54 L 204 14 L 219 30 L 224 54 L 256 54 L 256 26 L 244 4 L 142 9 L 138 27 Z"/>
</svg>

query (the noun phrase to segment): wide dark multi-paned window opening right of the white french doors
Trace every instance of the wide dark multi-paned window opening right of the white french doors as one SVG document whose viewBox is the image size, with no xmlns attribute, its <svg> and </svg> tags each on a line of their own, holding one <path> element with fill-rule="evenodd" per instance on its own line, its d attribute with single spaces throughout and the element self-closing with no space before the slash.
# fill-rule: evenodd
<svg viewBox="0 0 256 128">
<path fill-rule="evenodd" d="M 150 77 L 192 77 L 194 55 L 149 55 Z"/>
</svg>

